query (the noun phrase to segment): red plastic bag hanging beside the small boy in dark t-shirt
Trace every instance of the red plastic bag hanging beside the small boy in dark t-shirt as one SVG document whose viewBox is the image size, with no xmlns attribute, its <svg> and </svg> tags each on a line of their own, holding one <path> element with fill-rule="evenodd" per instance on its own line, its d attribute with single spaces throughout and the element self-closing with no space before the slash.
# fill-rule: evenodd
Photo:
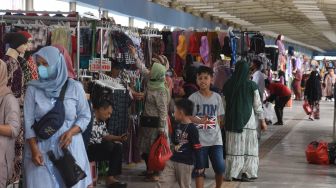
<svg viewBox="0 0 336 188">
<path fill-rule="evenodd" d="M 166 136 L 160 134 L 151 147 L 148 157 L 148 170 L 162 171 L 166 165 L 166 161 L 168 161 L 172 155 Z"/>
</svg>

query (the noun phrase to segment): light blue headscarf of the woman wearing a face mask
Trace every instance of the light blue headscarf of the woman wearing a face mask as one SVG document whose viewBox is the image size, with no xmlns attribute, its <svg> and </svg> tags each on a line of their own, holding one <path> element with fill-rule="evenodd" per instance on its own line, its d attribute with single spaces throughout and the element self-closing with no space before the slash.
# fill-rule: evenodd
<svg viewBox="0 0 336 188">
<path fill-rule="evenodd" d="M 65 59 L 61 52 L 52 46 L 41 48 L 33 55 L 34 60 L 36 57 L 42 57 L 49 65 L 50 77 L 47 80 L 39 79 L 33 80 L 28 83 L 29 86 L 37 87 L 44 90 L 46 96 L 57 98 L 61 92 L 62 86 L 68 79 L 68 71 Z"/>
</svg>

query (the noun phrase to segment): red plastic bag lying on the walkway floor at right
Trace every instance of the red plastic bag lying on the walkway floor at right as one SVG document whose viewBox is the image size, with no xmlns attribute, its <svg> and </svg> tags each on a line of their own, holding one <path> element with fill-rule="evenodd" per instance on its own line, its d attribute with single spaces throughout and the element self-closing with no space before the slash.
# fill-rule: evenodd
<svg viewBox="0 0 336 188">
<path fill-rule="evenodd" d="M 314 141 L 306 148 L 306 158 L 311 164 L 329 164 L 328 143 Z"/>
</svg>

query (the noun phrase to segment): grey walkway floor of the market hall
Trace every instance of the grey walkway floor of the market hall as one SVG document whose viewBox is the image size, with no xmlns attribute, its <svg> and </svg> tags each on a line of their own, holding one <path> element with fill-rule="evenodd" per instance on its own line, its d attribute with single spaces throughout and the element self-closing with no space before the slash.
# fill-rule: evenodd
<svg viewBox="0 0 336 188">
<path fill-rule="evenodd" d="M 226 182 L 223 188 L 335 188 L 336 166 L 307 164 L 306 146 L 314 140 L 331 141 L 333 103 L 321 103 L 321 120 L 309 121 L 302 102 L 285 109 L 285 126 L 270 126 L 262 136 L 259 179 L 254 183 Z M 144 165 L 128 166 L 121 179 L 129 188 L 154 188 L 137 176 Z M 103 187 L 103 186 L 98 186 Z M 175 185 L 173 188 L 178 188 Z M 206 188 L 214 187 L 214 174 L 207 171 Z"/>
</svg>

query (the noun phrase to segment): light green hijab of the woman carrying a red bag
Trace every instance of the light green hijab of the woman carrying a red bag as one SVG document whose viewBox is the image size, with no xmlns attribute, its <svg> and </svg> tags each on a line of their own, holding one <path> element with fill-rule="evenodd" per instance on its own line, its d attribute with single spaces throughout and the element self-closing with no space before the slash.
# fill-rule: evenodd
<svg viewBox="0 0 336 188">
<path fill-rule="evenodd" d="M 167 87 L 165 85 L 166 78 L 166 67 L 160 63 L 154 63 L 150 71 L 150 80 L 148 82 L 149 90 L 162 90 L 166 91 Z"/>
</svg>

